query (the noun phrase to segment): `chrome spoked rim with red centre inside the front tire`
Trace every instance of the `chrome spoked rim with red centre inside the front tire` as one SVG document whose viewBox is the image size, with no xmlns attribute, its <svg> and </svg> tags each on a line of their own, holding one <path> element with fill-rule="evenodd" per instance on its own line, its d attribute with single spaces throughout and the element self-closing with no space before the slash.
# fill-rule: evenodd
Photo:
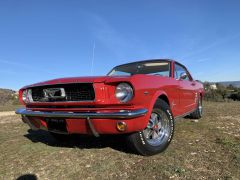
<svg viewBox="0 0 240 180">
<path fill-rule="evenodd" d="M 152 112 L 143 134 L 147 142 L 152 146 L 159 146 L 168 141 L 170 124 L 167 115 L 164 112 Z"/>
</svg>

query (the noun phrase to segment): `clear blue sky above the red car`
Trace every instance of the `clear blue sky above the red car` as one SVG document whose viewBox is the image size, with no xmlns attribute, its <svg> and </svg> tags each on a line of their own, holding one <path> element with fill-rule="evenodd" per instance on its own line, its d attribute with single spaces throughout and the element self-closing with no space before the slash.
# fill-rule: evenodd
<svg viewBox="0 0 240 180">
<path fill-rule="evenodd" d="M 240 80 L 239 9 L 238 0 L 2 0 L 0 87 L 152 58 L 176 59 L 195 79 Z"/>
</svg>

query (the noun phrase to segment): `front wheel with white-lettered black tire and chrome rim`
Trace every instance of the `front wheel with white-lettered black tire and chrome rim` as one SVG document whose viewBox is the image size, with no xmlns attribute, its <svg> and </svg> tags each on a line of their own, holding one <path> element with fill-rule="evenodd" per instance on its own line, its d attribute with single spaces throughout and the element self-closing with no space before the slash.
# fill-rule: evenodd
<svg viewBox="0 0 240 180">
<path fill-rule="evenodd" d="M 154 130 L 150 128 L 151 126 L 153 127 L 153 124 L 150 123 L 150 122 L 153 122 L 152 115 L 159 116 L 158 124 L 154 125 L 154 127 L 155 126 L 158 126 L 158 127 L 155 128 Z M 164 117 L 164 120 L 163 120 L 163 117 Z M 158 119 L 158 118 L 154 118 L 154 119 Z M 162 121 L 165 121 L 164 123 L 166 123 L 166 124 L 164 124 L 164 128 L 162 127 L 162 123 L 161 123 Z M 160 129 L 159 129 L 159 123 L 161 124 Z M 149 124 L 145 130 L 130 134 L 127 137 L 128 142 L 129 142 L 128 144 L 130 145 L 130 147 L 136 153 L 144 155 L 144 156 L 151 156 L 151 155 L 154 155 L 154 154 L 164 151 L 168 147 L 168 145 L 170 144 L 170 142 L 173 138 L 174 118 L 173 118 L 172 111 L 171 111 L 169 105 L 165 101 L 163 101 L 161 99 L 158 99 L 156 101 L 154 108 L 152 110 L 152 113 L 151 113 Z M 168 133 L 161 134 L 161 131 L 165 129 L 165 126 L 166 126 Z M 159 141 L 157 141 L 157 138 L 154 138 L 153 134 L 152 134 L 152 139 L 150 138 L 151 136 L 149 136 L 150 133 L 148 134 L 148 137 L 147 137 L 146 131 L 148 131 L 150 133 L 152 131 L 153 134 L 154 134 L 154 132 L 155 133 L 158 132 L 159 134 L 157 134 L 157 136 L 159 136 L 159 137 L 157 137 L 157 138 L 159 138 L 159 139 L 161 138 L 161 136 L 165 136 L 165 137 L 163 139 L 161 138 Z M 154 142 L 158 142 L 158 143 L 154 144 Z"/>
</svg>

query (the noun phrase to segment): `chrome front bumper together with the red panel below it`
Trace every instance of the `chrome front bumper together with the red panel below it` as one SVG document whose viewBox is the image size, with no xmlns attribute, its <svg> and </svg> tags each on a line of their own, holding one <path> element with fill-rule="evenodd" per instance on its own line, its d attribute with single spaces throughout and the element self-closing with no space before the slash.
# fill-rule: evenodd
<svg viewBox="0 0 240 180">
<path fill-rule="evenodd" d="M 114 112 L 62 112 L 62 111 L 32 111 L 26 108 L 16 110 L 16 114 L 22 115 L 23 122 L 32 130 L 48 130 L 47 118 L 64 118 L 67 123 L 68 133 L 88 134 L 88 130 L 94 136 L 99 134 L 119 134 L 116 123 L 124 121 L 127 124 L 125 133 L 139 131 L 145 128 L 145 115 L 147 109 L 120 110 Z M 62 132 L 56 132 L 62 133 Z"/>
</svg>

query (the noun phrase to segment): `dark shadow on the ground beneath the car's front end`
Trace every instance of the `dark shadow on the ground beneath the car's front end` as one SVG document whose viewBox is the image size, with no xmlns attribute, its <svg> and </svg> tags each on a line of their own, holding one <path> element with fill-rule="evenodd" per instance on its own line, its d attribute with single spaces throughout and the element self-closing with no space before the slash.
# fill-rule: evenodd
<svg viewBox="0 0 240 180">
<path fill-rule="evenodd" d="M 102 149 L 110 147 L 114 150 L 135 154 L 130 147 L 127 146 L 125 135 L 101 135 L 94 137 L 90 135 L 69 135 L 64 141 L 57 141 L 49 132 L 43 130 L 28 130 L 28 134 L 24 135 L 34 143 L 44 143 L 53 147 L 68 147 L 79 149 Z"/>
</svg>

